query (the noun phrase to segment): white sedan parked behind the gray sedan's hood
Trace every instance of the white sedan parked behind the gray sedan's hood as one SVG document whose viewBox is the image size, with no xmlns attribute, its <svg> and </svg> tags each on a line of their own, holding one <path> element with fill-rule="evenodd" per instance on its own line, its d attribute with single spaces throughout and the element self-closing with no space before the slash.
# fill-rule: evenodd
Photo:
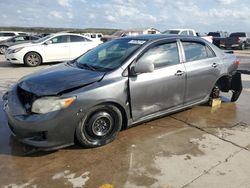
<svg viewBox="0 0 250 188">
<path fill-rule="evenodd" d="M 73 60 L 97 45 L 97 42 L 83 35 L 57 33 L 31 43 L 11 46 L 5 58 L 13 64 L 34 67 L 41 63 Z"/>
</svg>

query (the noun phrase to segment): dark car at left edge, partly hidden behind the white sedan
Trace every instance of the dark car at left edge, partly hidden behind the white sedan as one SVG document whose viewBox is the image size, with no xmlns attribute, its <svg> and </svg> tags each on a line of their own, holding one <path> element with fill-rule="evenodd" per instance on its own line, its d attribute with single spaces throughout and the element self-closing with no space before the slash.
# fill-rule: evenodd
<svg viewBox="0 0 250 188">
<path fill-rule="evenodd" d="M 38 40 L 40 37 L 32 35 L 15 36 L 4 41 L 0 41 L 0 54 L 5 54 L 7 48 L 15 44 L 22 44 Z"/>
</svg>

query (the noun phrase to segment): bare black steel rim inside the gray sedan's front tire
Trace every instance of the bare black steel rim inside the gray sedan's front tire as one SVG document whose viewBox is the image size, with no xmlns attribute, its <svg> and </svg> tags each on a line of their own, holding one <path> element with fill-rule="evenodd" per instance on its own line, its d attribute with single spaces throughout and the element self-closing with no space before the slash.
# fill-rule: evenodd
<svg viewBox="0 0 250 188">
<path fill-rule="evenodd" d="M 100 117 L 98 117 L 92 125 L 92 131 L 96 136 L 105 136 L 108 134 L 113 126 L 112 117 L 103 112 Z"/>
</svg>

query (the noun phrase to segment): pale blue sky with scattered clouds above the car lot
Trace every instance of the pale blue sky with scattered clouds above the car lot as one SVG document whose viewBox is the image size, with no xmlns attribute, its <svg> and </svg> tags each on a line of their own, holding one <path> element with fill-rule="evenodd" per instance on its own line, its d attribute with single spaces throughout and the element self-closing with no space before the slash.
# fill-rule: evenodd
<svg viewBox="0 0 250 188">
<path fill-rule="evenodd" d="M 249 0 L 0 0 L 0 26 L 250 31 Z"/>
</svg>

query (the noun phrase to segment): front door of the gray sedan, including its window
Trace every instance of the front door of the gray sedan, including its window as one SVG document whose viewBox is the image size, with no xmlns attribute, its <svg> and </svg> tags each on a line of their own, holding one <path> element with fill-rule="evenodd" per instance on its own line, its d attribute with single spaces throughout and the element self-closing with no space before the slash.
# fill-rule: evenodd
<svg viewBox="0 0 250 188">
<path fill-rule="evenodd" d="M 185 68 L 180 63 L 175 40 L 149 47 L 137 59 L 151 61 L 155 70 L 129 77 L 133 120 L 183 104 L 185 93 Z"/>
</svg>

